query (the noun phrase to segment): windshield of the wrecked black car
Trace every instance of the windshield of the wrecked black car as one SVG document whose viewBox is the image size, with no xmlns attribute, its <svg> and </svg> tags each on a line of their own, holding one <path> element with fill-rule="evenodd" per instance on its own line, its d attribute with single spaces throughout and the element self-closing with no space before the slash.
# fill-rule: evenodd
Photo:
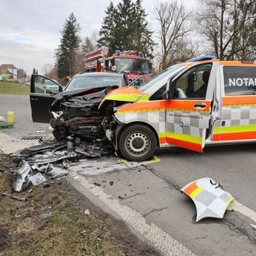
<svg viewBox="0 0 256 256">
<path fill-rule="evenodd" d="M 112 76 L 80 76 L 70 80 L 65 90 L 90 89 L 104 86 L 122 86 L 121 77 Z"/>
</svg>

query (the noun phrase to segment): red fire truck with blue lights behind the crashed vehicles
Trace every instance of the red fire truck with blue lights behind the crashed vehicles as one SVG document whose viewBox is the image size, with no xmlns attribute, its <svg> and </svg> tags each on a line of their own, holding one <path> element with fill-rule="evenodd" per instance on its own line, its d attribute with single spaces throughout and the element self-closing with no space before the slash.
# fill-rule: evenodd
<svg viewBox="0 0 256 256">
<path fill-rule="evenodd" d="M 107 52 L 107 47 L 102 47 L 84 54 L 86 71 L 126 73 L 130 81 L 150 74 L 152 65 L 142 52 L 116 50 L 110 57 Z"/>
</svg>

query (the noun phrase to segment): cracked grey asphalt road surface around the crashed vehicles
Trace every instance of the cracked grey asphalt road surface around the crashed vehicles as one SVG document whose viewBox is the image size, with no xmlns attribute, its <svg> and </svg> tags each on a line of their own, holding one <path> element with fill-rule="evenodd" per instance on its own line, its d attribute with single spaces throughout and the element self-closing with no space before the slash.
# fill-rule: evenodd
<svg viewBox="0 0 256 256">
<path fill-rule="evenodd" d="M 0 115 L 14 110 L 17 117 L 13 129 L 0 132 L 21 138 L 47 130 L 48 125 L 31 122 L 27 96 L 0 95 L 0 102 Z M 134 168 L 99 159 L 77 166 L 70 182 L 163 255 L 253 256 L 254 219 L 239 210 L 227 210 L 223 219 L 195 222 L 194 204 L 180 189 L 195 179 L 210 177 L 255 214 L 255 152 L 253 144 L 211 146 L 203 154 L 168 149 L 158 152 L 160 162 Z M 88 171 L 92 166 L 93 171 Z"/>
</svg>

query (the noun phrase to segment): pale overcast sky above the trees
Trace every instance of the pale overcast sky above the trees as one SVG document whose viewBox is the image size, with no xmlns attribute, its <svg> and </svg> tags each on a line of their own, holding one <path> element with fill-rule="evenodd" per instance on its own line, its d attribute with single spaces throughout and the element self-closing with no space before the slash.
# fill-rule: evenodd
<svg viewBox="0 0 256 256">
<path fill-rule="evenodd" d="M 155 30 L 153 11 L 158 2 L 142 0 L 151 30 Z M 193 8 L 197 0 L 183 2 Z M 26 74 L 36 68 L 42 74 L 46 64 L 54 65 L 60 30 L 70 13 L 82 27 L 82 38 L 90 37 L 100 30 L 109 4 L 110 0 L 0 0 L 0 64 L 14 64 Z"/>
</svg>

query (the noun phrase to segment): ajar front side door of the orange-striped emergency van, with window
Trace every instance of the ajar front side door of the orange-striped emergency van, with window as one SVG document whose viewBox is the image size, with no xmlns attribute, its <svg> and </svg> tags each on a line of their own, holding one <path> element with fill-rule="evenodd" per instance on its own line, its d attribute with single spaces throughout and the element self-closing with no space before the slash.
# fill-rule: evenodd
<svg viewBox="0 0 256 256">
<path fill-rule="evenodd" d="M 166 101 L 166 142 L 202 152 L 209 134 L 216 65 L 203 62 L 173 79 Z"/>
</svg>

